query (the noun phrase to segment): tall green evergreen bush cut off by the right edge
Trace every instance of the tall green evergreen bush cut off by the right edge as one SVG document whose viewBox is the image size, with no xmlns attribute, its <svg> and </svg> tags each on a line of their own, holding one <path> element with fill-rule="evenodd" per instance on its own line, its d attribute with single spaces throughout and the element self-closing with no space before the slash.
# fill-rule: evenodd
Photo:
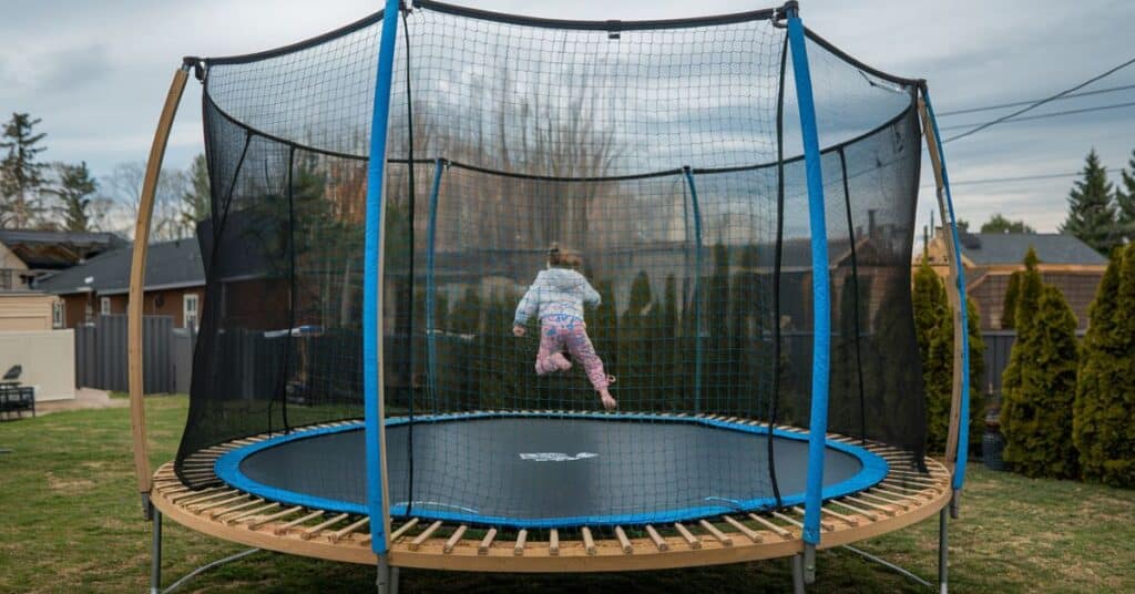
<svg viewBox="0 0 1135 594">
<path fill-rule="evenodd" d="M 1088 310 L 1073 417 L 1083 476 L 1135 486 L 1135 245 L 1112 252 Z"/>
</svg>

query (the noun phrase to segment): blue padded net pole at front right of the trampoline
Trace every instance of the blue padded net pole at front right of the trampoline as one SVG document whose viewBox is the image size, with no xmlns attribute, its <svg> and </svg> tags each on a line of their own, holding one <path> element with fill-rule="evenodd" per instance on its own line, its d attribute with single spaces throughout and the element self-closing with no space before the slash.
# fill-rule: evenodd
<svg viewBox="0 0 1135 594">
<path fill-rule="evenodd" d="M 792 7 L 788 12 L 788 41 L 792 50 L 800 133 L 808 182 L 808 216 L 812 231 L 812 424 L 808 435 L 808 483 L 804 500 L 804 542 L 819 544 L 819 507 L 823 503 L 824 447 L 827 436 L 827 383 L 831 359 L 831 296 L 827 274 L 827 224 L 824 219 L 824 181 L 819 162 L 816 106 L 812 97 L 804 24 Z"/>
</svg>

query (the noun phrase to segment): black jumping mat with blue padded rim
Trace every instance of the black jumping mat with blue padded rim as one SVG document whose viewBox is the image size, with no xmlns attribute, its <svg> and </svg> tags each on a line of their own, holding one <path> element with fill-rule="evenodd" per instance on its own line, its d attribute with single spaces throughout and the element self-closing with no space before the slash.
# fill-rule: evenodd
<svg viewBox="0 0 1135 594">
<path fill-rule="evenodd" d="M 632 423 L 634 421 L 634 423 Z M 645 423 L 644 423 L 645 421 Z M 454 485 L 491 486 L 419 488 L 415 501 L 392 501 L 395 516 L 463 521 L 511 528 L 632 526 L 690 521 L 731 512 L 777 508 L 776 495 L 755 476 L 767 468 L 766 427 L 740 423 L 659 416 L 462 415 L 419 418 L 414 434 L 414 472 L 453 478 Z M 405 419 L 387 421 L 390 493 L 407 483 Z M 443 457 L 453 433 L 489 443 Z M 807 478 L 806 436 L 774 429 L 780 505 L 800 505 Z M 499 436 L 499 437 L 496 437 Z M 672 444 L 686 444 L 675 449 Z M 717 452 L 746 453 L 720 474 Z M 367 513 L 363 426 L 300 430 L 235 449 L 217 460 L 218 478 L 234 488 L 288 505 L 345 513 Z M 471 459 L 478 458 L 478 460 Z M 488 459 L 489 463 L 486 463 Z M 340 466 L 350 460 L 354 466 Z M 334 475 L 297 469 L 342 468 Z M 628 467 L 647 469 L 627 472 Z M 824 461 L 824 497 L 867 490 L 886 477 L 888 465 L 863 447 L 829 442 Z M 473 476 L 479 471 L 488 476 Z M 642 477 L 654 477 L 642 480 Z M 675 488 L 675 483 L 704 490 Z M 504 493 L 505 496 L 499 496 Z M 648 513 L 636 510 L 653 510 Z"/>
</svg>

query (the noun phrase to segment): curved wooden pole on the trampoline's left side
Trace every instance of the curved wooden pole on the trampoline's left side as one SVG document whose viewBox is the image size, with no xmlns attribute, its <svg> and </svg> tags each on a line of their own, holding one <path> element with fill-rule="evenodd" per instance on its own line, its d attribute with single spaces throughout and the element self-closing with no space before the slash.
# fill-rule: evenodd
<svg viewBox="0 0 1135 594">
<path fill-rule="evenodd" d="M 127 357 L 129 360 L 128 379 L 131 391 L 131 438 L 134 442 L 134 471 L 137 475 L 138 492 L 142 493 L 142 505 L 146 513 L 150 510 L 150 490 L 153 479 L 150 472 L 150 449 L 145 440 L 145 405 L 142 401 L 144 391 L 142 375 L 142 309 L 145 300 L 145 256 L 150 239 L 150 219 L 153 215 L 154 194 L 158 190 L 158 177 L 161 175 L 161 161 L 166 157 L 166 144 L 169 141 L 169 129 L 177 115 L 177 106 L 182 102 L 185 82 L 188 80 L 188 68 L 178 68 L 174 82 L 166 95 L 166 106 L 161 109 L 158 129 L 153 134 L 150 147 L 150 160 L 146 162 L 145 178 L 142 183 L 142 199 L 138 202 L 138 218 L 134 224 L 134 253 L 131 260 L 131 294 L 126 308 L 129 323 L 127 332 Z"/>
</svg>

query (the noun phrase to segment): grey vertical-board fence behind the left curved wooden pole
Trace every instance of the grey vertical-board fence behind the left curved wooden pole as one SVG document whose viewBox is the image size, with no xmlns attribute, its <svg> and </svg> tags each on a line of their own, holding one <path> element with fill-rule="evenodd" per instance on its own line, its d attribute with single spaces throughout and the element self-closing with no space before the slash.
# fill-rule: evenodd
<svg viewBox="0 0 1135 594">
<path fill-rule="evenodd" d="M 120 313 L 99 316 L 75 328 L 76 386 L 128 390 L 126 331 L 127 318 Z M 170 316 L 143 318 L 145 393 L 188 392 L 194 340 L 192 331 L 175 328 Z"/>
</svg>

